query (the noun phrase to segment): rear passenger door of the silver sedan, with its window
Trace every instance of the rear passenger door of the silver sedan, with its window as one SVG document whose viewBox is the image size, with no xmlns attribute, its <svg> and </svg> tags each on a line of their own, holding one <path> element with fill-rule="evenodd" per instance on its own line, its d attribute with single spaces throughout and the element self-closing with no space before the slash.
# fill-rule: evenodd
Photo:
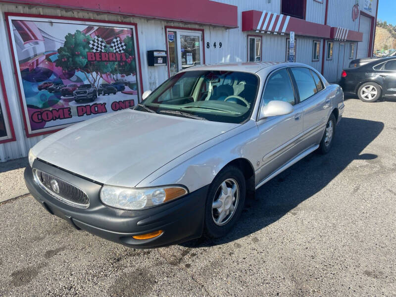
<svg viewBox="0 0 396 297">
<path fill-rule="evenodd" d="M 325 129 L 330 97 L 325 95 L 324 86 L 315 71 L 306 67 L 292 67 L 295 88 L 298 93 L 298 106 L 303 110 L 302 147 L 310 147 L 320 142 Z"/>
</svg>

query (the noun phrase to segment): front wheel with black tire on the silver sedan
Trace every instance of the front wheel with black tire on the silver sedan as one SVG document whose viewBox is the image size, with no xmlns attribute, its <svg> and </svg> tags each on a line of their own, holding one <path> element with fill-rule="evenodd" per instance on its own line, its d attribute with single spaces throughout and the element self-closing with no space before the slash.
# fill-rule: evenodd
<svg viewBox="0 0 396 297">
<path fill-rule="evenodd" d="M 227 194 L 224 194 L 222 184 L 225 184 Z M 241 216 L 245 196 L 246 181 L 241 170 L 235 166 L 221 170 L 211 183 L 206 197 L 204 235 L 219 238 L 230 232 Z M 216 202 L 219 207 L 214 208 L 214 202 L 218 200 L 221 200 Z"/>
</svg>

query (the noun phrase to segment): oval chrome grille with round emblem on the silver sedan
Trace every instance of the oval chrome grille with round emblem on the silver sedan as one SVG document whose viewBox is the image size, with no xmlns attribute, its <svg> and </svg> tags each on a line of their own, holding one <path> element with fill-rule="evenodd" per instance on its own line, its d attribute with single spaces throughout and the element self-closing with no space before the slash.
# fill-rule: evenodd
<svg viewBox="0 0 396 297">
<path fill-rule="evenodd" d="M 80 188 L 38 169 L 33 173 L 36 183 L 52 197 L 75 207 L 87 208 L 90 205 L 88 195 Z"/>
</svg>

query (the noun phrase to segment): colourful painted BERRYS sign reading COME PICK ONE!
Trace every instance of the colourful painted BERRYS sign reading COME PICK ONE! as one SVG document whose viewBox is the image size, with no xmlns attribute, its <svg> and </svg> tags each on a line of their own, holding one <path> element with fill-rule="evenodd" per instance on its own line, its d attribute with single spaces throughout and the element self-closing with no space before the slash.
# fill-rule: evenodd
<svg viewBox="0 0 396 297">
<path fill-rule="evenodd" d="M 8 18 L 28 136 L 138 103 L 134 26 Z"/>
</svg>

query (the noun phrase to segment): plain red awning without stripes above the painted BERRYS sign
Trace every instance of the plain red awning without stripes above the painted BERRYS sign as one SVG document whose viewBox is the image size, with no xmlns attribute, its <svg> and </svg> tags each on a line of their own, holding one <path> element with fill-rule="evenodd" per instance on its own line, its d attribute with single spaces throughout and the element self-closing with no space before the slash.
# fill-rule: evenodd
<svg viewBox="0 0 396 297">
<path fill-rule="evenodd" d="M 238 27 L 237 6 L 210 0 L 118 0 L 116 3 L 108 0 L 0 0 L 0 2 L 100 11 L 227 28 Z"/>
</svg>

